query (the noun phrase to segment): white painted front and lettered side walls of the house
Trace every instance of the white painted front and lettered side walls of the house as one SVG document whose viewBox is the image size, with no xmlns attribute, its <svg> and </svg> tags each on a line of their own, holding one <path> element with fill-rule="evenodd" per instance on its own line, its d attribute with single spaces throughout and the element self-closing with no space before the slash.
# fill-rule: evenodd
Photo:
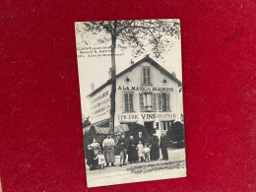
<svg viewBox="0 0 256 192">
<path fill-rule="evenodd" d="M 141 70 L 142 67 L 149 66 L 151 67 L 151 75 L 152 75 L 152 86 L 142 86 L 141 85 Z M 131 82 L 127 83 L 125 78 L 128 77 Z M 167 80 L 166 84 L 162 83 L 162 80 Z M 156 112 L 141 112 L 140 111 L 140 100 L 139 94 L 144 93 L 143 91 L 132 91 L 132 87 L 135 88 L 150 88 L 153 94 L 160 94 L 164 92 L 160 91 L 153 91 L 153 88 L 169 88 L 172 92 L 167 92 L 170 94 L 170 112 L 167 111 L 156 111 Z M 93 96 L 90 100 L 94 100 L 97 96 L 102 95 L 103 93 L 109 92 L 110 96 L 111 86 L 107 86 L 106 88 L 102 89 L 96 96 Z M 124 112 L 124 93 L 134 93 L 134 112 Z M 107 119 L 110 117 L 110 97 L 109 102 L 100 105 L 100 107 L 105 107 L 105 110 L 100 111 L 97 114 L 91 114 L 92 123 L 96 123 L 100 120 Z M 95 105 L 98 102 L 104 100 L 107 96 L 103 97 L 102 99 L 98 99 L 96 102 L 92 104 Z M 168 78 L 166 75 L 160 72 L 155 66 L 151 65 L 149 62 L 144 62 L 128 71 L 127 73 L 123 74 L 119 78 L 116 79 L 116 96 L 115 96 L 115 103 L 116 103 L 116 111 L 115 111 L 115 125 L 120 125 L 121 123 L 128 123 L 128 122 L 137 122 L 139 124 L 144 125 L 144 122 L 147 121 L 154 121 L 154 126 L 156 127 L 156 123 L 160 121 L 170 121 L 170 120 L 180 120 L 180 113 L 183 113 L 183 104 L 179 103 L 182 101 L 182 94 L 179 93 L 179 88 L 177 83 L 175 83 L 172 79 Z M 91 104 L 91 105 L 92 105 Z M 96 108 L 98 109 L 98 107 Z M 96 111 L 96 109 L 91 110 L 92 113 Z M 148 118 L 147 118 L 148 117 Z M 160 132 L 162 128 L 160 127 L 157 135 L 160 136 Z"/>
</svg>

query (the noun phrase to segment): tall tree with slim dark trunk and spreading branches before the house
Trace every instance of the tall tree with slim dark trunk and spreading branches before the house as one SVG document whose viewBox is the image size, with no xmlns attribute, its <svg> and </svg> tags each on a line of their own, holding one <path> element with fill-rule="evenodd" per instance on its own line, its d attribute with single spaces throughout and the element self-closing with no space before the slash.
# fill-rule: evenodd
<svg viewBox="0 0 256 192">
<path fill-rule="evenodd" d="M 117 42 L 128 44 L 132 48 L 134 55 L 140 55 L 146 51 L 146 47 L 151 47 L 152 52 L 157 58 L 161 53 L 168 50 L 171 42 L 166 36 L 179 38 L 180 27 L 178 20 L 130 20 L 130 21 L 103 21 L 85 22 L 84 32 L 99 34 L 97 41 L 104 43 L 111 42 L 111 108 L 110 108 L 110 127 L 114 134 L 115 116 L 115 93 L 116 93 L 116 63 L 115 50 Z M 76 29 L 79 31 L 79 29 Z M 102 35 L 105 34 L 105 35 Z M 86 44 L 88 43 L 85 39 Z"/>
</svg>

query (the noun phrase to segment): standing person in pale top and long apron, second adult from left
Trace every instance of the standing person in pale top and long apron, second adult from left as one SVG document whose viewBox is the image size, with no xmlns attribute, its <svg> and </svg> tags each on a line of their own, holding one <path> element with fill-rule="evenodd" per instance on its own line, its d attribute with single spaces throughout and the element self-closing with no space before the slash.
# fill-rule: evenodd
<svg viewBox="0 0 256 192">
<path fill-rule="evenodd" d="M 112 166 L 114 165 L 115 157 L 114 157 L 114 146 L 115 142 L 111 138 L 111 134 L 107 135 L 107 138 L 103 140 L 102 146 L 105 151 L 105 160 L 106 160 L 106 166 L 109 166 L 109 162 L 111 162 Z"/>
</svg>

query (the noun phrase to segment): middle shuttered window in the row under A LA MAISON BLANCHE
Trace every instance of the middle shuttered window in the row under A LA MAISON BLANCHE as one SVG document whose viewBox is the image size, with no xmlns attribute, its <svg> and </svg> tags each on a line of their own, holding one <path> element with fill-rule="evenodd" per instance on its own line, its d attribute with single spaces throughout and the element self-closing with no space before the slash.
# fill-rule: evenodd
<svg viewBox="0 0 256 192">
<path fill-rule="evenodd" d="M 157 96 L 156 94 L 144 93 L 140 94 L 141 111 L 156 111 L 157 110 Z"/>
</svg>

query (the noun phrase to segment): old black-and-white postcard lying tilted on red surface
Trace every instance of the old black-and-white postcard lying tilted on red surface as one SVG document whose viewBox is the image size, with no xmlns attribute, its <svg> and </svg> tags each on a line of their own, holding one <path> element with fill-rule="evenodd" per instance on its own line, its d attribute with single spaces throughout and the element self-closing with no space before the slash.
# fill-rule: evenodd
<svg viewBox="0 0 256 192">
<path fill-rule="evenodd" d="M 185 177 L 180 21 L 75 29 L 88 187 Z"/>
</svg>

